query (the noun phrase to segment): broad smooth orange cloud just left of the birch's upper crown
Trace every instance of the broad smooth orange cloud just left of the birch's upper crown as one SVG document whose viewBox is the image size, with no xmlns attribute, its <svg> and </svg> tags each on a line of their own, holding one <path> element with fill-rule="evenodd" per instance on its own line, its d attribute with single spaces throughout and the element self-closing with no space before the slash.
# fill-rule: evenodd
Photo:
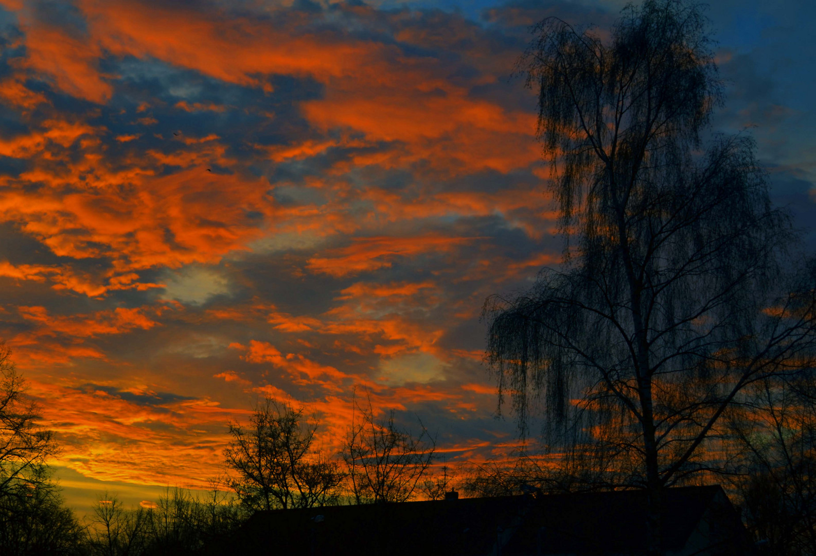
<svg viewBox="0 0 816 556">
<path fill-rule="evenodd" d="M 357 156 L 357 166 L 422 162 L 435 172 L 507 172 L 539 160 L 530 113 L 506 113 L 498 105 L 472 100 L 463 89 L 451 89 L 449 83 L 428 82 L 432 74 L 406 73 L 389 71 L 384 62 L 370 68 L 370 76 L 355 75 L 344 89 L 333 87 L 325 99 L 304 103 L 304 111 L 324 131 L 348 128 L 369 140 L 400 144 L 388 153 Z M 381 76 L 395 80 L 382 83 Z"/>
</svg>

